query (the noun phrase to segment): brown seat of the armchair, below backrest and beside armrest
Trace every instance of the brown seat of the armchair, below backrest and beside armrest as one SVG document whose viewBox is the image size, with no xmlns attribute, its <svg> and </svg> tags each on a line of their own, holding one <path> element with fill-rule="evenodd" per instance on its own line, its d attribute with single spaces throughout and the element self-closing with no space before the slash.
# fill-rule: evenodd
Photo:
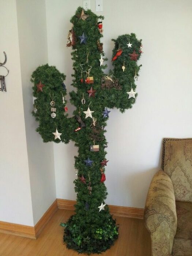
<svg viewBox="0 0 192 256">
<path fill-rule="evenodd" d="M 173 242 L 174 256 L 192 256 L 192 203 L 176 202 L 177 231 Z"/>
</svg>

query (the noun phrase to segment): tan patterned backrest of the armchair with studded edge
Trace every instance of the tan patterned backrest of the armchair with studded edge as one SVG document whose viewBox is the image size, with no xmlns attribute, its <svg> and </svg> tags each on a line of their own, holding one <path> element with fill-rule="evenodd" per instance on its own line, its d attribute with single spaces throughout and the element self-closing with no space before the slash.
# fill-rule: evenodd
<svg viewBox="0 0 192 256">
<path fill-rule="evenodd" d="M 164 139 L 162 169 L 173 182 L 176 201 L 192 202 L 192 139 Z"/>
</svg>

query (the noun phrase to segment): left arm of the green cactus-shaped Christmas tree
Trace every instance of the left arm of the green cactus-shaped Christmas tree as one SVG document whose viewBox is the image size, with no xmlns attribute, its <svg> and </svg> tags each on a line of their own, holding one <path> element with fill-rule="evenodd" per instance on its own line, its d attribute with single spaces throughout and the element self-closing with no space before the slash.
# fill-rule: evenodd
<svg viewBox="0 0 192 256">
<path fill-rule="evenodd" d="M 56 142 L 59 143 L 60 140 L 54 140 L 54 135 L 52 132 L 57 130 L 61 132 L 61 141 L 68 143 L 70 136 L 68 130 L 69 120 L 67 114 L 65 113 L 62 99 L 62 93 L 65 97 L 66 90 L 63 89 L 63 81 L 65 80 L 65 75 L 61 74 L 56 67 L 49 66 L 48 64 L 38 67 L 31 75 L 31 82 L 34 83 L 33 86 L 33 96 L 36 97 L 34 101 L 34 107 L 37 108 L 37 113 L 34 111 L 33 116 L 35 116 L 36 121 L 39 123 L 37 132 L 41 135 L 44 142 Z M 37 92 L 37 86 L 41 81 L 45 86 L 43 91 Z M 54 108 L 56 108 L 56 117 L 52 118 L 50 102 L 52 101 L 51 96 L 55 102 Z M 65 132 L 63 132 L 65 131 Z"/>
</svg>

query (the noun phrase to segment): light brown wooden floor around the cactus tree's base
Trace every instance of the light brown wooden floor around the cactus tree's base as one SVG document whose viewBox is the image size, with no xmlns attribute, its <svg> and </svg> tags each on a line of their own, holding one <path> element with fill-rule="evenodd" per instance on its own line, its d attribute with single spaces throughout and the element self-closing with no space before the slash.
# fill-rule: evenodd
<svg viewBox="0 0 192 256">
<path fill-rule="evenodd" d="M 0 256 L 77 256 L 77 252 L 67 249 L 63 244 L 63 227 L 59 226 L 60 222 L 65 222 L 72 214 L 72 211 L 58 210 L 37 240 L 0 233 Z M 114 218 L 120 224 L 119 238 L 102 255 L 150 256 L 150 236 L 143 220 Z"/>
</svg>

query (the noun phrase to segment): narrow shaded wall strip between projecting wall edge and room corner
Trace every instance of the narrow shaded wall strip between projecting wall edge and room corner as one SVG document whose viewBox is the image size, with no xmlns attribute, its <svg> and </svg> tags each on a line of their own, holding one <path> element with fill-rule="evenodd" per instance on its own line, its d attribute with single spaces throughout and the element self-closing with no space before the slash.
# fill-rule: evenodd
<svg viewBox="0 0 192 256">
<path fill-rule="evenodd" d="M 48 63 L 45 0 L 16 0 L 23 105 L 34 225 L 56 199 L 53 143 L 43 143 L 31 115 L 32 72 Z"/>
</svg>

